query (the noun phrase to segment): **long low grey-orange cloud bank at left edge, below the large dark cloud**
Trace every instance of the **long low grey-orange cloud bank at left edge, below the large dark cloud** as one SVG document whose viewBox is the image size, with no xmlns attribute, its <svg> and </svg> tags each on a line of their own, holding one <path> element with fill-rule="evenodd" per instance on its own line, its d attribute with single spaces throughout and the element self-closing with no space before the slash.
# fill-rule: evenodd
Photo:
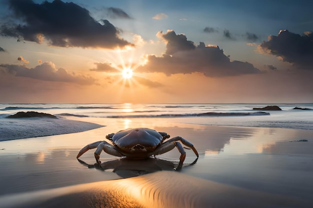
<svg viewBox="0 0 313 208">
<path fill-rule="evenodd" d="M 34 68 L 26 68 L 21 65 L 1 64 L 4 68 L 2 73 L 11 74 L 17 77 L 28 77 L 32 79 L 53 81 L 53 82 L 71 82 L 77 84 L 94 84 L 95 79 L 75 73 L 69 73 L 63 68 L 56 69 L 52 62 L 44 62 Z"/>
</svg>

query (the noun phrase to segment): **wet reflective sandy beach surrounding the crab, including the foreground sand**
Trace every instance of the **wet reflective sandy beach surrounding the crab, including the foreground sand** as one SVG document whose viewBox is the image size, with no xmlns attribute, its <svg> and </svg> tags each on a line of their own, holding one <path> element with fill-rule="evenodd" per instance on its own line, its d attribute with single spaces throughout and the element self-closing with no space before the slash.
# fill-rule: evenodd
<svg viewBox="0 0 313 208">
<path fill-rule="evenodd" d="M 207 117 L 217 123 L 203 124 L 205 117 L 70 116 L 65 118 L 69 123 L 96 125 L 76 133 L 1 141 L 1 208 L 309 208 L 313 131 L 243 126 L 239 121 L 245 117 L 228 118 L 240 125 Z M 180 171 L 175 170 L 176 149 L 156 159 L 132 161 L 102 152 L 101 167 L 95 164 L 94 150 L 76 159 L 86 144 L 137 127 L 181 136 L 194 145 L 199 158 L 186 149 Z"/>
</svg>

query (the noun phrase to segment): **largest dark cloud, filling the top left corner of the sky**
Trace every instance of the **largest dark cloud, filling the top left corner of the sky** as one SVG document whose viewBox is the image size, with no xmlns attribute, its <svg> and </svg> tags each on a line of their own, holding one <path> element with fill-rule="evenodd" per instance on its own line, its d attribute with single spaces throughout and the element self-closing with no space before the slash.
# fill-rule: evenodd
<svg viewBox="0 0 313 208">
<path fill-rule="evenodd" d="M 132 45 L 119 37 L 119 31 L 109 21 L 103 20 L 101 25 L 89 15 L 87 9 L 73 2 L 8 2 L 13 11 L 13 19 L 1 25 L 2 36 L 37 43 L 48 40 L 49 44 L 61 47 L 114 48 Z M 14 21 L 18 23 L 13 23 Z"/>
</svg>

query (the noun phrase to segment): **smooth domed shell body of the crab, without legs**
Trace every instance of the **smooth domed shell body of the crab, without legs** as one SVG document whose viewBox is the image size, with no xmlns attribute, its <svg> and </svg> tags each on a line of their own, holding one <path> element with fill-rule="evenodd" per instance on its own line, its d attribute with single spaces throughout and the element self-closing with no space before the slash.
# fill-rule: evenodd
<svg viewBox="0 0 313 208">
<path fill-rule="evenodd" d="M 147 158 L 162 143 L 162 135 L 148 128 L 121 130 L 113 135 L 113 145 L 128 158 Z"/>
</svg>

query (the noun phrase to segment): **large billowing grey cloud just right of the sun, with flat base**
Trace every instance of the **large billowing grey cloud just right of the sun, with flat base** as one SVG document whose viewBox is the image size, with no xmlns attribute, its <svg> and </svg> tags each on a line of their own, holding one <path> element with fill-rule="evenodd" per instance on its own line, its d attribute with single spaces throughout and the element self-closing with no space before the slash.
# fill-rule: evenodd
<svg viewBox="0 0 313 208">
<path fill-rule="evenodd" d="M 168 76 L 198 72 L 208 77 L 260 72 L 248 62 L 230 61 L 218 46 L 205 46 L 200 42 L 196 47 L 185 35 L 176 35 L 173 30 L 168 30 L 165 34 L 160 32 L 158 36 L 167 41 L 166 53 L 162 57 L 149 55 L 147 64 L 138 67 L 137 72 L 162 72 Z"/>
</svg>

